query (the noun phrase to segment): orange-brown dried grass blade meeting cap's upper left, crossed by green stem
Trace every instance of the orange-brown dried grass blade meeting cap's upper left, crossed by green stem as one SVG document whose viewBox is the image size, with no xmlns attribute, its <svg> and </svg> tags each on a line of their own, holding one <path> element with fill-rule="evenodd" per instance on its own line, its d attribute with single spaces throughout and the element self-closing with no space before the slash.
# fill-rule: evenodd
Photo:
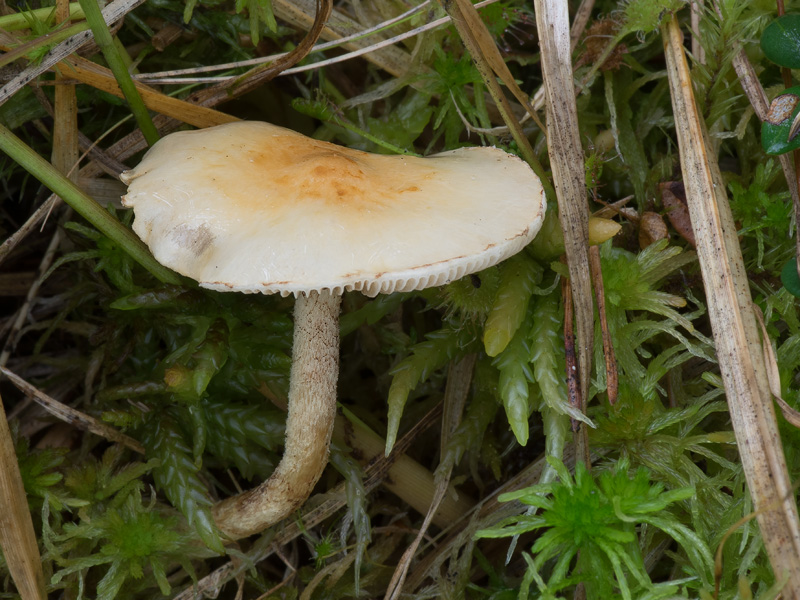
<svg viewBox="0 0 800 600">
<path fill-rule="evenodd" d="M 77 79 L 81 83 L 90 85 L 98 90 L 103 90 L 122 98 L 122 90 L 117 85 L 114 75 L 109 69 L 93 63 L 80 56 L 71 56 L 61 63 L 64 65 L 62 75 Z M 212 127 L 223 123 L 238 121 L 234 116 L 225 114 L 213 108 L 206 108 L 179 98 L 172 98 L 142 83 L 136 83 L 136 89 L 142 97 L 145 106 L 157 113 L 189 123 L 195 127 Z"/>
</svg>

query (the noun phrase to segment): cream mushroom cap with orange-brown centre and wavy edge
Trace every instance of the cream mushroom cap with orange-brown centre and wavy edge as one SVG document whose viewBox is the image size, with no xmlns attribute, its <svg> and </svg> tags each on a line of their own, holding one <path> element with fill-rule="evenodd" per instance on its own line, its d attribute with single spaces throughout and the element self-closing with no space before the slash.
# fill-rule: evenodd
<svg viewBox="0 0 800 600">
<path fill-rule="evenodd" d="M 370 154 L 260 122 L 164 137 L 122 202 L 155 258 L 202 287 L 419 290 L 490 267 L 541 227 L 541 183 L 497 148 Z"/>
</svg>

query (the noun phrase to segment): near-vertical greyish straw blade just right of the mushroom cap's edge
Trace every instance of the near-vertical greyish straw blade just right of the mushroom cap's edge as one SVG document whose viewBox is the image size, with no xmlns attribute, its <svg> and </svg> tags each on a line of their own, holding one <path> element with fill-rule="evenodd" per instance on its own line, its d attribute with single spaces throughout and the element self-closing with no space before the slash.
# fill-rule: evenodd
<svg viewBox="0 0 800 600">
<path fill-rule="evenodd" d="M 534 9 L 547 106 L 548 151 L 575 307 L 581 396 L 586 398 L 592 366 L 594 313 L 589 276 L 589 215 L 572 75 L 569 15 L 566 3 L 560 0 L 535 0 Z"/>
</svg>

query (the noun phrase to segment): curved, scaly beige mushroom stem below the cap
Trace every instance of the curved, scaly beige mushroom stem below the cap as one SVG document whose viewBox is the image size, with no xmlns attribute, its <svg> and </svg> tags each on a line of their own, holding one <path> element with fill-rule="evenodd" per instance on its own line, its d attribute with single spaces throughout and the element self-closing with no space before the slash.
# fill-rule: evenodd
<svg viewBox="0 0 800 600">
<path fill-rule="evenodd" d="M 263 531 L 297 509 L 328 463 L 339 376 L 339 307 L 330 292 L 298 296 L 283 458 L 269 479 L 214 507 L 214 520 L 238 539 Z"/>
</svg>

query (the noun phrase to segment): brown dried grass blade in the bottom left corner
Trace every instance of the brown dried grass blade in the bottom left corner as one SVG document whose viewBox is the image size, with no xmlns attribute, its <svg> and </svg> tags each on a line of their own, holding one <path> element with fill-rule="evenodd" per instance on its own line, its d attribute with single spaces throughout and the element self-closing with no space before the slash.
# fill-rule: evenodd
<svg viewBox="0 0 800 600">
<path fill-rule="evenodd" d="M 0 398 L 0 547 L 22 600 L 46 600 L 42 559 Z"/>
</svg>

